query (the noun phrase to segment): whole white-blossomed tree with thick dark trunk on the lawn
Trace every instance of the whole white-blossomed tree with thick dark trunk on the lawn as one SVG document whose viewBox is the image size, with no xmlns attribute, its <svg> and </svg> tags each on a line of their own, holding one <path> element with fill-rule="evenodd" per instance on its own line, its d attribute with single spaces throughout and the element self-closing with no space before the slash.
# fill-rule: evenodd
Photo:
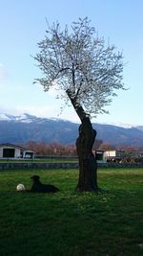
<svg viewBox="0 0 143 256">
<path fill-rule="evenodd" d="M 45 38 L 38 43 L 39 53 L 34 57 L 43 73 L 37 79 L 48 91 L 58 86 L 67 103 L 71 102 L 81 125 L 76 140 L 79 159 L 77 191 L 97 191 L 97 164 L 92 153 L 96 131 L 91 117 L 107 112 L 105 105 L 112 102 L 114 90 L 123 89 L 122 54 L 115 47 L 106 46 L 90 26 L 86 17 L 72 23 L 63 31 L 59 23 L 49 23 Z M 91 116 L 90 116 L 91 115 Z"/>
</svg>

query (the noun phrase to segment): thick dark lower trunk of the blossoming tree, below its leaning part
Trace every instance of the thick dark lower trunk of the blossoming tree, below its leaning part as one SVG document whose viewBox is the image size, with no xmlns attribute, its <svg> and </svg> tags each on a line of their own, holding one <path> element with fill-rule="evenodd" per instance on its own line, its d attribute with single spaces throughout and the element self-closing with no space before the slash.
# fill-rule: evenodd
<svg viewBox="0 0 143 256">
<path fill-rule="evenodd" d="M 79 137 L 76 140 L 76 151 L 79 160 L 79 179 L 76 190 L 97 191 L 97 162 L 92 153 L 92 145 L 96 136 L 89 117 L 82 120 Z"/>
</svg>

